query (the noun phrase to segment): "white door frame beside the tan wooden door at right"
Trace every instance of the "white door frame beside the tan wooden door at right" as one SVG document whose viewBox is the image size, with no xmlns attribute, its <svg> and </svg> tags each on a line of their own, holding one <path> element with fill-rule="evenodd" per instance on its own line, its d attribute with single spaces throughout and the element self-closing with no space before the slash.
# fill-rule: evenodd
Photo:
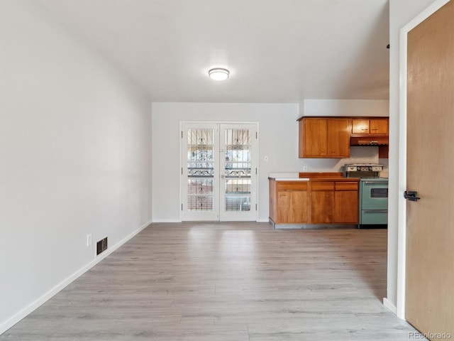
<svg viewBox="0 0 454 341">
<path fill-rule="evenodd" d="M 441 9 L 450 0 L 436 0 L 400 30 L 399 60 L 399 210 L 397 235 L 397 302 L 396 315 L 405 320 L 405 276 L 406 276 L 406 72 L 407 34 L 426 18 Z M 388 270 L 389 271 L 389 270 Z"/>
</svg>

